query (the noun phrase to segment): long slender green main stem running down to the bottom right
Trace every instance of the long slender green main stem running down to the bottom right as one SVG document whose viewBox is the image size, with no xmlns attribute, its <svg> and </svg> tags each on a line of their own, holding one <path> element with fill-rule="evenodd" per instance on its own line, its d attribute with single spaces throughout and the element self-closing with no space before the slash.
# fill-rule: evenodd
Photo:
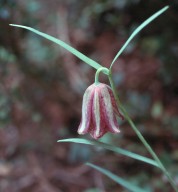
<svg viewBox="0 0 178 192">
<path fill-rule="evenodd" d="M 143 145 L 145 146 L 145 148 L 149 151 L 149 153 L 151 154 L 151 156 L 153 157 L 153 159 L 158 163 L 160 169 L 164 172 L 164 174 L 167 176 L 170 184 L 172 185 L 172 187 L 174 188 L 174 190 L 176 192 L 178 192 L 178 189 L 176 187 L 176 184 L 174 183 L 174 180 L 172 179 L 172 177 L 170 176 L 170 174 L 168 173 L 168 171 L 166 170 L 166 168 L 164 167 L 164 165 L 162 164 L 162 162 L 159 160 L 158 156 L 156 155 L 156 153 L 153 151 L 153 149 L 151 148 L 151 146 L 147 143 L 147 141 L 145 140 L 145 138 L 142 136 L 142 134 L 140 133 L 140 131 L 137 129 L 137 127 L 135 126 L 134 122 L 131 120 L 131 118 L 129 117 L 127 111 L 125 110 L 125 108 L 122 106 L 119 96 L 117 94 L 116 91 L 116 87 L 115 84 L 113 82 L 112 79 L 112 73 L 111 70 L 109 71 L 109 81 L 114 93 L 114 97 L 116 99 L 116 102 L 118 104 L 118 106 L 120 107 L 122 113 L 124 114 L 125 118 L 127 119 L 127 121 L 129 122 L 130 126 L 132 127 L 132 129 L 135 131 L 135 133 L 137 134 L 137 136 L 139 137 L 139 139 L 141 140 L 141 142 L 143 143 Z"/>
</svg>

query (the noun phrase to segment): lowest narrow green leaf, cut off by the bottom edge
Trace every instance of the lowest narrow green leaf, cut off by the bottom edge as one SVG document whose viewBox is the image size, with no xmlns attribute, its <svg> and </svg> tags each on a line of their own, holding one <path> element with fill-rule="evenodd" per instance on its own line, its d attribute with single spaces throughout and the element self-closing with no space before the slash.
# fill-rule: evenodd
<svg viewBox="0 0 178 192">
<path fill-rule="evenodd" d="M 117 175 L 111 173 L 110 171 L 96 166 L 92 163 L 86 163 L 86 165 L 92 167 L 93 169 L 96 169 L 97 171 L 103 173 L 104 175 L 108 176 L 110 179 L 112 179 L 113 181 L 115 181 L 116 183 L 120 184 L 121 186 L 125 187 L 126 189 L 128 189 L 129 191 L 132 192 L 146 192 L 146 190 L 141 189 L 139 187 L 137 187 L 136 185 L 132 184 L 131 182 L 128 182 L 124 179 L 122 179 L 121 177 L 118 177 Z"/>
</svg>

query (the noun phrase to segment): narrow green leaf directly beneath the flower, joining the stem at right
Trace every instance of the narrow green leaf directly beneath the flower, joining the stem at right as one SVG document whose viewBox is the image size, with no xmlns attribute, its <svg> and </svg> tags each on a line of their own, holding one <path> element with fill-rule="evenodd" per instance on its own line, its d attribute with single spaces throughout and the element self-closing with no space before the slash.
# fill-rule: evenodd
<svg viewBox="0 0 178 192">
<path fill-rule="evenodd" d="M 115 147 L 115 146 L 112 146 L 112 145 L 109 145 L 109 144 L 106 144 L 106 143 L 103 143 L 100 141 L 87 140 L 87 139 L 81 139 L 81 138 L 70 138 L 70 139 L 58 140 L 58 142 L 82 143 L 82 144 L 86 144 L 86 145 L 94 145 L 97 147 L 103 147 L 103 148 L 113 151 L 115 153 L 119 153 L 121 155 L 125 155 L 127 157 L 131 157 L 133 159 L 153 165 L 155 167 L 159 167 L 158 164 L 152 159 L 149 159 L 147 157 L 138 155 L 136 153 L 133 153 L 133 152 L 130 152 L 130 151 L 127 151 L 127 150 L 121 149 L 119 147 Z"/>
</svg>

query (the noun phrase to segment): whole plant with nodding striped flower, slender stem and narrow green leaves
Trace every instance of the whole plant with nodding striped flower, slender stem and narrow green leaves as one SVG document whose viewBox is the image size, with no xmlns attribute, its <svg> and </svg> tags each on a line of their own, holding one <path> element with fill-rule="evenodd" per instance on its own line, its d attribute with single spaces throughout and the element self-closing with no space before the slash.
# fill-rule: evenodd
<svg viewBox="0 0 178 192">
<path fill-rule="evenodd" d="M 171 7 L 172 7 L 172 5 L 171 5 Z M 109 69 L 107 69 L 107 68 L 104 69 L 99 63 L 86 57 L 85 55 L 83 55 L 82 53 L 80 53 L 79 51 L 77 51 L 76 49 L 71 47 L 70 45 L 66 44 L 65 42 L 63 42 L 59 39 L 56 39 L 52 36 L 49 36 L 48 34 L 37 31 L 37 30 L 35 30 L 31 27 L 27 27 L 27 26 L 16 25 L 16 24 L 10 24 L 10 25 L 30 30 L 50 41 L 53 41 L 53 42 L 59 44 L 63 48 L 67 49 L 68 51 L 70 51 L 71 53 L 76 55 L 82 61 L 86 62 L 90 66 L 97 69 L 96 76 L 95 76 L 95 84 L 91 85 L 84 94 L 83 108 L 82 108 L 82 120 L 81 120 L 81 124 L 80 124 L 79 130 L 78 130 L 79 134 L 90 133 L 95 139 L 98 139 L 98 138 L 102 137 L 108 131 L 113 132 L 113 133 L 118 133 L 119 126 L 116 121 L 116 115 L 119 115 L 121 118 L 123 118 L 123 116 L 118 111 L 118 108 L 117 108 L 117 104 L 118 104 L 119 108 L 121 109 L 122 113 L 124 114 L 125 119 L 128 121 L 128 123 L 130 124 L 132 129 L 137 134 L 138 138 L 141 140 L 141 142 L 144 144 L 145 148 L 148 150 L 148 152 L 151 154 L 152 158 L 154 159 L 154 161 L 152 159 L 149 159 L 149 164 L 150 164 L 150 161 L 152 162 L 152 164 L 154 162 L 154 165 L 159 167 L 162 170 L 162 172 L 167 176 L 167 179 L 170 182 L 170 184 L 172 185 L 173 189 L 176 192 L 178 192 L 178 188 L 176 186 L 175 180 L 172 178 L 172 176 L 169 174 L 167 169 L 164 167 L 164 165 L 160 161 L 159 157 L 156 155 L 156 153 L 153 151 L 151 146 L 145 140 L 145 138 L 143 137 L 143 135 L 141 134 L 141 132 L 139 131 L 137 126 L 134 124 L 134 122 L 130 118 L 130 116 L 127 113 L 127 111 L 125 110 L 125 108 L 123 107 L 122 103 L 120 102 L 119 97 L 117 95 L 115 84 L 112 79 L 112 74 L 111 74 L 111 69 L 112 69 L 113 64 L 119 58 L 119 56 L 122 54 L 124 49 L 129 45 L 130 41 L 143 28 L 145 28 L 150 22 L 152 22 L 154 19 L 156 19 L 159 15 L 164 13 L 168 8 L 169 8 L 169 6 L 163 7 L 162 9 L 160 9 L 159 11 L 157 11 L 156 13 L 151 15 L 148 19 L 146 19 L 141 25 L 139 25 L 134 30 L 134 32 L 130 35 L 128 40 L 124 43 L 124 45 L 118 51 L 117 55 L 114 57 Z M 112 90 L 109 86 L 98 82 L 97 74 L 99 74 L 99 72 L 100 72 L 100 67 L 101 67 L 101 71 L 103 71 L 105 74 L 108 75 Z M 66 142 L 66 140 L 65 141 L 60 140 L 60 141 Z M 115 147 L 115 146 L 111 146 L 111 148 L 112 147 Z M 132 158 L 134 156 L 134 157 L 137 157 L 136 159 L 145 161 L 145 157 L 140 157 L 140 155 L 136 155 L 133 153 L 127 153 L 127 155 Z M 148 163 L 148 159 L 145 162 Z M 95 167 L 95 169 L 96 169 L 96 166 L 92 166 L 92 167 L 93 168 Z M 99 169 L 97 168 L 97 170 L 99 170 Z M 101 170 L 102 169 L 100 168 L 100 172 L 104 173 Z M 106 172 L 104 174 L 106 174 Z M 108 175 L 108 174 L 109 173 L 107 173 L 106 175 Z M 114 180 L 118 181 L 118 179 L 116 179 L 116 177 Z M 119 178 L 119 180 L 120 180 L 120 178 Z M 126 186 L 126 184 L 124 184 L 124 186 Z M 130 185 L 130 183 L 127 184 L 127 186 L 129 186 L 129 189 L 132 188 L 132 185 Z M 133 186 L 133 187 L 134 187 L 134 191 L 136 191 L 135 186 Z M 143 191 L 143 190 L 139 190 L 139 191 Z"/>
</svg>

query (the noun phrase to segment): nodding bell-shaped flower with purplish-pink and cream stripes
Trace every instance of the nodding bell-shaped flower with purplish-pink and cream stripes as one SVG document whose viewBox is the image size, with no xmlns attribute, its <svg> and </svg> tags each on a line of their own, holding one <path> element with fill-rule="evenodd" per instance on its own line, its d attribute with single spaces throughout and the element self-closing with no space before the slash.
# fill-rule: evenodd
<svg viewBox="0 0 178 192">
<path fill-rule="evenodd" d="M 90 133 L 94 139 L 102 137 L 107 132 L 119 133 L 116 114 L 123 119 L 112 89 L 103 83 L 92 84 L 83 96 L 82 120 L 78 133 Z"/>
</svg>

